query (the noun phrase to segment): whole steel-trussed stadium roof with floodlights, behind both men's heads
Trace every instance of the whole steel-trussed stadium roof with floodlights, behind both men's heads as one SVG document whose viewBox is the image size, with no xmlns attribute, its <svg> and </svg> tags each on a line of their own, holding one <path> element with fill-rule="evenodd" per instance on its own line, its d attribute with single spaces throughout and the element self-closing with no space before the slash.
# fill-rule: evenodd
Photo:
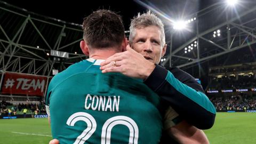
<svg viewBox="0 0 256 144">
<path fill-rule="evenodd" d="M 23 2 L 10 1 L 13 5 L 18 4 L 13 6 L 0 1 L 0 69 L 2 71 L 52 76 L 52 69 L 61 71 L 72 63 L 86 59 L 79 49 L 79 41 L 82 40 L 83 31 L 81 25 L 76 24 L 82 23 L 78 21 L 82 21 L 84 12 L 77 16 L 79 18 L 75 16 L 69 19 L 65 18 L 67 18 L 68 13 L 71 15 L 79 13 L 77 11 L 76 13 L 72 12 L 75 9 L 83 9 L 89 14 L 92 10 L 102 8 L 97 2 L 95 1 L 93 5 L 86 5 L 82 2 L 79 2 L 82 4 L 76 5 L 73 3 L 66 4 L 66 6 L 70 5 L 70 9 L 59 4 L 60 7 L 55 5 L 57 8 L 53 12 L 50 6 L 47 7 L 49 3 L 39 3 L 38 5 L 43 5 L 41 5 L 43 10 L 36 11 L 40 6 L 34 5 L 34 9 L 31 9 L 31 6 L 23 7 L 28 6 Z M 211 64 L 214 61 L 213 65 L 225 65 L 228 63 L 227 61 L 234 61 L 230 58 L 232 57 L 230 53 L 242 54 L 240 50 L 245 52 L 245 49 L 253 57 L 252 47 L 255 47 L 256 38 L 256 2 L 253 0 L 239 2 L 234 7 L 227 6 L 226 1 L 213 0 L 207 2 L 199 0 L 129 1 L 125 2 L 125 6 L 122 6 L 121 2 L 104 1 L 102 5 L 116 3 L 107 9 L 120 11 L 126 29 L 129 27 L 130 19 L 136 13 L 146 11 L 146 9 L 155 12 L 164 20 L 166 42 L 169 47 L 162 64 L 166 67 L 176 66 L 183 69 L 198 67 L 200 77 L 200 68 L 203 63 L 208 65 L 209 62 Z M 63 11 L 63 7 L 66 11 Z M 59 13 L 59 16 L 55 15 L 56 13 Z M 47 17 L 43 16 L 44 14 Z M 187 26 L 185 30 L 173 29 L 172 25 L 178 19 L 185 22 Z M 244 47 L 247 48 L 242 49 Z M 251 49 L 252 51 L 250 51 Z M 55 53 L 53 57 L 50 55 L 51 51 L 53 54 L 58 51 L 59 55 L 57 52 L 57 55 Z M 68 55 L 68 57 L 59 57 L 60 55 Z M 231 65 L 232 63 L 228 64 Z"/>
</svg>

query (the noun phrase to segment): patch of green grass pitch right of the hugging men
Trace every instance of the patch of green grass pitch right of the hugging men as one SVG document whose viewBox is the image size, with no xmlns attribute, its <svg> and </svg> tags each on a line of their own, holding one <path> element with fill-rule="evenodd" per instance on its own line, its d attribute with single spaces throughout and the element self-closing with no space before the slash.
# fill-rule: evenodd
<svg viewBox="0 0 256 144">
<path fill-rule="evenodd" d="M 204 132 L 211 144 L 256 143 L 256 113 L 217 113 L 213 127 Z"/>
</svg>

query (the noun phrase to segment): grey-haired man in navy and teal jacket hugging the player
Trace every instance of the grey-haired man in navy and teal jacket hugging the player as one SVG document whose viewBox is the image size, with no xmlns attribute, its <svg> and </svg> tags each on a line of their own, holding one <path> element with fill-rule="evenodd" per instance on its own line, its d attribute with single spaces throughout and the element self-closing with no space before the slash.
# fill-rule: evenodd
<svg viewBox="0 0 256 144">
<path fill-rule="evenodd" d="M 179 143 L 208 143 L 202 130 L 210 129 L 215 107 L 195 78 L 179 68 L 157 65 L 165 54 L 162 21 L 151 12 L 138 14 L 130 26 L 127 51 L 101 63 L 102 73 L 118 72 L 140 78 L 163 100 L 164 129 Z M 113 65 L 113 63 L 115 65 Z M 197 128 L 198 129 L 197 129 Z"/>
</svg>

